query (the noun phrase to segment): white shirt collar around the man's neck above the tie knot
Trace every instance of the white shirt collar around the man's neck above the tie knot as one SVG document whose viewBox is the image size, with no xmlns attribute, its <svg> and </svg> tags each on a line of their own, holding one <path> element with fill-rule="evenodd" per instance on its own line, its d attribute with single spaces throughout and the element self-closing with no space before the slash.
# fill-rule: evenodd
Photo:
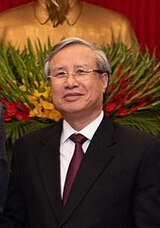
<svg viewBox="0 0 160 228">
<path fill-rule="evenodd" d="M 99 127 L 103 119 L 103 116 L 104 116 L 104 112 L 102 111 L 95 120 L 93 120 L 90 124 L 88 124 L 85 128 L 83 128 L 79 132 L 75 131 L 66 120 L 63 120 L 61 144 L 63 144 L 74 133 L 80 133 L 84 135 L 86 138 L 88 138 L 89 140 L 91 140 L 97 128 Z"/>
</svg>

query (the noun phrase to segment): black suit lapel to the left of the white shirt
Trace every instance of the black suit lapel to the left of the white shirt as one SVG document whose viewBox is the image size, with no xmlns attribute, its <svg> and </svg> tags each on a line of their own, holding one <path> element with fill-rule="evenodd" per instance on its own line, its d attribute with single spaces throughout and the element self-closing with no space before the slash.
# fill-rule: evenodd
<svg viewBox="0 0 160 228">
<path fill-rule="evenodd" d="M 49 205 L 51 205 L 56 215 L 57 222 L 59 222 L 61 216 L 60 134 L 61 124 L 54 126 L 49 134 L 41 140 L 41 149 L 37 155 L 38 169 L 42 183 L 49 200 Z"/>
</svg>

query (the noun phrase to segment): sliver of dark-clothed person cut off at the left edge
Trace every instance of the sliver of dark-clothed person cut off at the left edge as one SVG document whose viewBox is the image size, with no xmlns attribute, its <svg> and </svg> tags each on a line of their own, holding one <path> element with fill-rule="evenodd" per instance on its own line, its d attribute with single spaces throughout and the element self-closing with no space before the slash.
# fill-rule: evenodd
<svg viewBox="0 0 160 228">
<path fill-rule="evenodd" d="M 8 166 L 6 161 L 5 137 L 3 131 L 2 104 L 0 103 L 0 212 L 3 211 L 8 187 Z"/>
</svg>

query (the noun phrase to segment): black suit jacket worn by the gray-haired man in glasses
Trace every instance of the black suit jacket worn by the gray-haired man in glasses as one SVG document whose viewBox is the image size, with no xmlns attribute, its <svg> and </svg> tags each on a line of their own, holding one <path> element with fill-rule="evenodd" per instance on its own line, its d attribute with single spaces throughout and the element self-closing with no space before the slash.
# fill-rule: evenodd
<svg viewBox="0 0 160 228">
<path fill-rule="evenodd" d="M 15 145 L 4 213 L 13 219 L 15 228 L 160 227 L 158 140 L 105 117 L 62 210 L 61 130 L 58 123 Z"/>
</svg>

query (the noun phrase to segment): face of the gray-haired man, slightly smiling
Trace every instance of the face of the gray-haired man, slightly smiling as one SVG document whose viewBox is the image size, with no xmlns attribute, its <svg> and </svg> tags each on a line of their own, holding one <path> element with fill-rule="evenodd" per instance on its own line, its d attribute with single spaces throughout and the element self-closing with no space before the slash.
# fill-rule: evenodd
<svg viewBox="0 0 160 228">
<path fill-rule="evenodd" d="M 96 58 L 92 49 L 84 45 L 71 45 L 59 51 L 50 63 L 52 76 L 70 72 L 68 76 L 51 77 L 52 100 L 65 117 L 75 114 L 83 117 L 99 113 L 108 77 L 97 72 L 76 76 L 72 72 L 96 70 Z"/>
</svg>

